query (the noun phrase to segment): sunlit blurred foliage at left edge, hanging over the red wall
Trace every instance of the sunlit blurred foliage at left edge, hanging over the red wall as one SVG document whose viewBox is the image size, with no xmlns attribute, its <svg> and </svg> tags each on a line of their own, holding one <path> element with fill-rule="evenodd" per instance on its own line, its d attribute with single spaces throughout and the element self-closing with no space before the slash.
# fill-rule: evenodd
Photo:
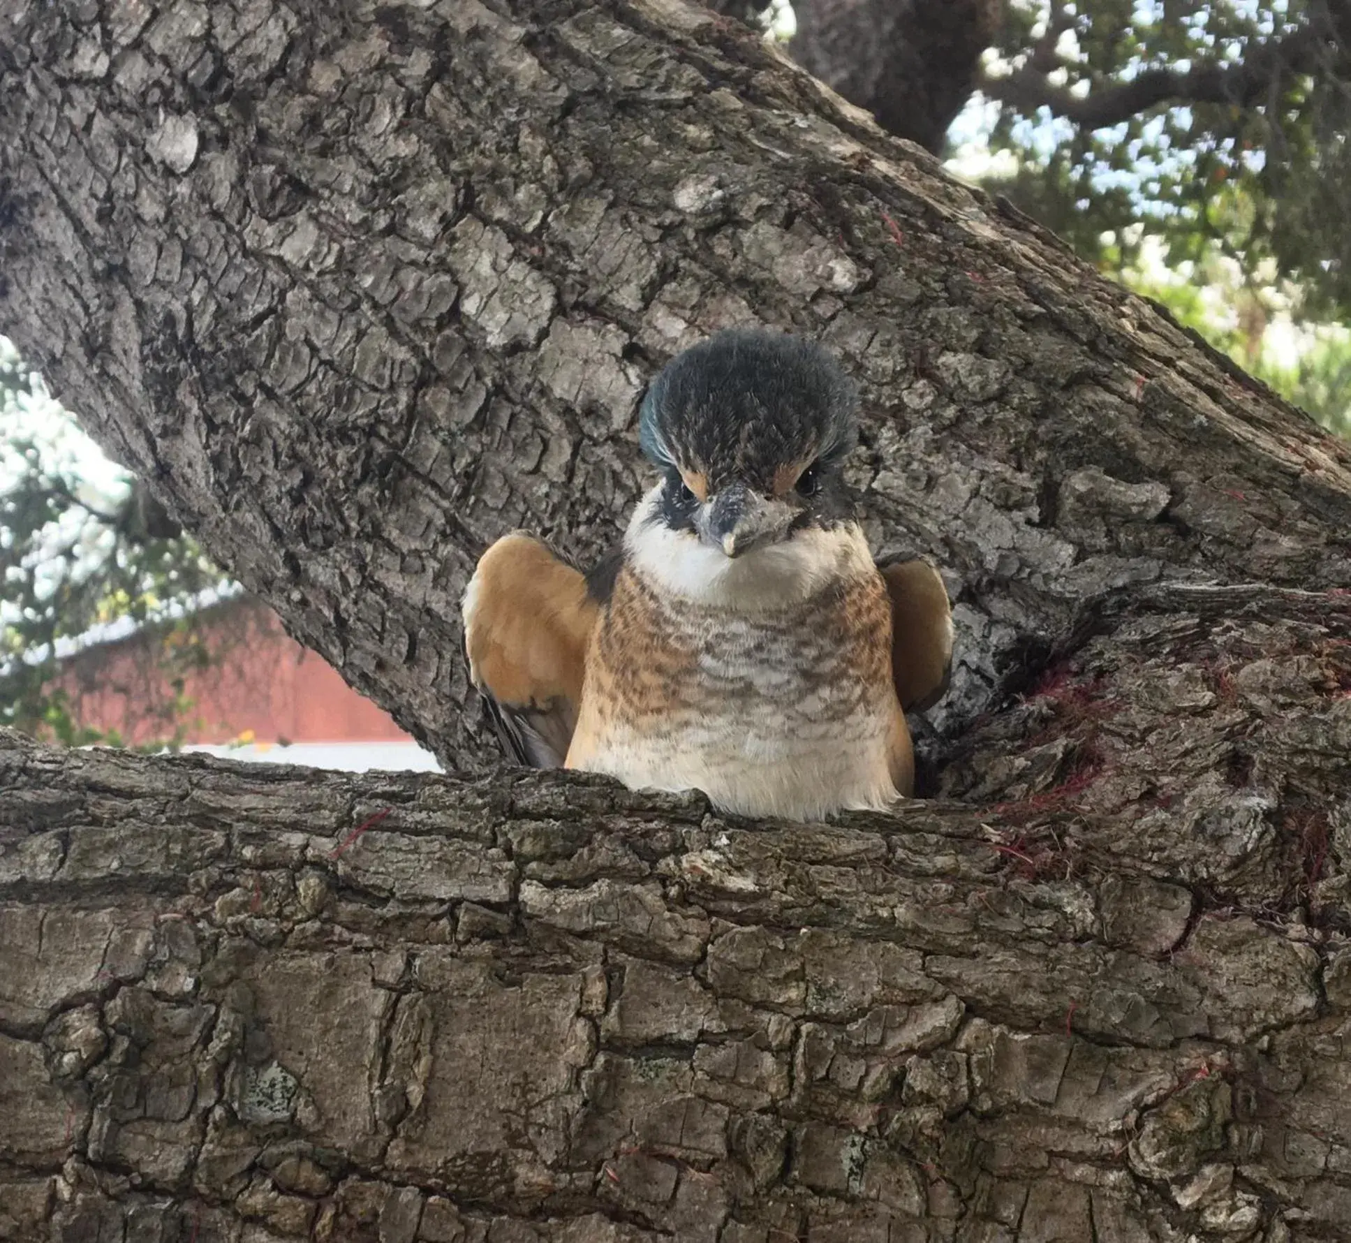
<svg viewBox="0 0 1351 1243">
<path fill-rule="evenodd" d="M 80 723 L 70 663 L 58 655 L 72 646 L 61 640 L 128 617 L 157 640 L 155 669 L 135 688 L 157 721 L 154 744 L 176 744 L 190 711 L 185 677 L 209 657 L 193 619 L 166 612 L 220 574 L 190 538 L 146 522 L 128 478 L 99 494 L 77 462 L 58 465 L 61 420 L 69 415 L 45 401 L 36 377 L 0 354 L 0 724 L 120 744 Z"/>
</svg>

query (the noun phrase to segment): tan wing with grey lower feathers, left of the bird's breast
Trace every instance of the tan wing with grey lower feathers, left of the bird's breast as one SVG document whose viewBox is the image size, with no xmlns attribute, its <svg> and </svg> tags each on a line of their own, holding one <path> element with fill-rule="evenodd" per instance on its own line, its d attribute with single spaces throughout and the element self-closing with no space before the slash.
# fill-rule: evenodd
<svg viewBox="0 0 1351 1243">
<path fill-rule="evenodd" d="M 598 594 L 581 572 L 519 531 L 484 553 L 469 580 L 469 676 L 503 746 L 523 765 L 562 767 Z"/>
</svg>

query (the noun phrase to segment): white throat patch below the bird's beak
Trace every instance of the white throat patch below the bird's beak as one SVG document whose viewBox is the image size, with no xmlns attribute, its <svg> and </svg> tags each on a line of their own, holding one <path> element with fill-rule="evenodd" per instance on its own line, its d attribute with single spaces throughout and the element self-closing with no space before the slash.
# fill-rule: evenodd
<svg viewBox="0 0 1351 1243">
<path fill-rule="evenodd" d="M 809 600 L 832 582 L 875 573 L 858 523 L 809 527 L 782 543 L 740 557 L 709 547 L 693 531 L 673 531 L 657 517 L 662 485 L 634 511 L 624 535 L 628 561 L 654 586 L 697 604 L 761 612 Z"/>
</svg>

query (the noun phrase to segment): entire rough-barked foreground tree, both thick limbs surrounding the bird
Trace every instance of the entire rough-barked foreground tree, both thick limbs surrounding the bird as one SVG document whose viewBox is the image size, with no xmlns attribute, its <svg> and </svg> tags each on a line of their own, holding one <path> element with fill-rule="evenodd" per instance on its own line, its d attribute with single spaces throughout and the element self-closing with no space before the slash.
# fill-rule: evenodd
<svg viewBox="0 0 1351 1243">
<path fill-rule="evenodd" d="M 474 557 L 612 540 L 730 323 L 959 665 L 832 826 L 4 736 L 0 1229 L 1351 1239 L 1343 445 L 676 0 L 7 23 L 0 327 L 449 766 Z"/>
</svg>

